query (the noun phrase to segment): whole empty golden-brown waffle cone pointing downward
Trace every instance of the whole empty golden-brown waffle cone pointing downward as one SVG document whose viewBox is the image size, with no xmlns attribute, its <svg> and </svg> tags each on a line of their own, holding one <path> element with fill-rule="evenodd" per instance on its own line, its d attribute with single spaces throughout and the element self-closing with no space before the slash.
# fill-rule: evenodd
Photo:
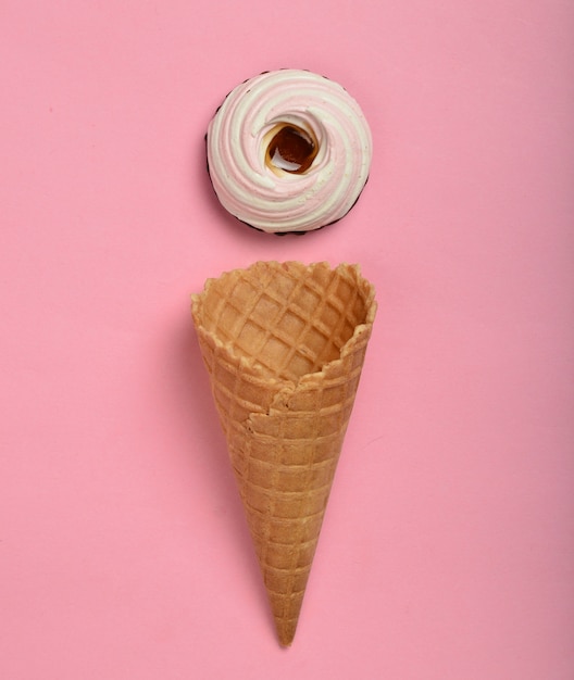
<svg viewBox="0 0 574 680">
<path fill-rule="evenodd" d="M 292 642 L 376 303 L 355 265 L 258 262 L 192 316 L 279 642 Z"/>
</svg>

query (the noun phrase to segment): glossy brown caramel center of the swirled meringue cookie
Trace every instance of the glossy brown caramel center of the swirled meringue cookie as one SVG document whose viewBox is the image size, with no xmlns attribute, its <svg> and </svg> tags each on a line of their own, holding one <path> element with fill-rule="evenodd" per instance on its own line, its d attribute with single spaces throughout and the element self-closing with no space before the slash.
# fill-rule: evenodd
<svg viewBox="0 0 574 680">
<path fill-rule="evenodd" d="M 273 172 L 282 169 L 302 175 L 311 167 L 319 144 L 307 130 L 296 125 L 279 123 L 271 130 L 270 136 L 265 163 Z"/>
</svg>

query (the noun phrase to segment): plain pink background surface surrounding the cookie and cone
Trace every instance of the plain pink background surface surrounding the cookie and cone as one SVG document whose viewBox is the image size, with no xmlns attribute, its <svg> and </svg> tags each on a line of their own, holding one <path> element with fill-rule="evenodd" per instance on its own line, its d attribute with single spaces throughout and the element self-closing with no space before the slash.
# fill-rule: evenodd
<svg viewBox="0 0 574 680">
<path fill-rule="evenodd" d="M 574 678 L 574 5 L 0 1 L 0 677 Z M 203 134 L 304 67 L 374 133 L 302 238 Z M 275 640 L 189 315 L 258 259 L 379 313 L 298 634 Z"/>
</svg>

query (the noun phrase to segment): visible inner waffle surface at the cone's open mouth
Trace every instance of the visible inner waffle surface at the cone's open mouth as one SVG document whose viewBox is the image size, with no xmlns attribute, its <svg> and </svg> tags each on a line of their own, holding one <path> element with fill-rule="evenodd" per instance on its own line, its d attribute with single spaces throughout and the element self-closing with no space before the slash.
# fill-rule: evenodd
<svg viewBox="0 0 574 680">
<path fill-rule="evenodd" d="M 346 270 L 273 265 L 212 282 L 203 325 L 264 375 L 297 380 L 338 358 L 364 315 L 364 298 Z"/>
</svg>

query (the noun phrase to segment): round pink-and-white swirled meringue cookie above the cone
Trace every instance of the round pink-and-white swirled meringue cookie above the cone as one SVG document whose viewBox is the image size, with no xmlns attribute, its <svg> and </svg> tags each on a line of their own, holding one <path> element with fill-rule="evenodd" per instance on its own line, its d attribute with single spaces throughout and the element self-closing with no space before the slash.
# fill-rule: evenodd
<svg viewBox="0 0 574 680">
<path fill-rule="evenodd" d="M 284 68 L 227 96 L 209 125 L 207 153 L 229 213 L 263 231 L 301 232 L 353 206 L 369 178 L 372 137 L 340 85 Z"/>
</svg>

